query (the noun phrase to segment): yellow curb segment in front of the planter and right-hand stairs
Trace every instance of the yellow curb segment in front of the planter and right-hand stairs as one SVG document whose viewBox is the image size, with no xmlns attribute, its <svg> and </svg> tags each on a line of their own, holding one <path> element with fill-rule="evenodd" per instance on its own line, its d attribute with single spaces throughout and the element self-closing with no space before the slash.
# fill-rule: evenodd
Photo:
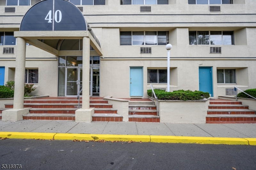
<svg viewBox="0 0 256 170">
<path fill-rule="evenodd" d="M 200 144 L 228 144 L 248 145 L 243 138 L 228 137 L 190 137 L 190 136 L 150 136 L 151 142 L 156 143 L 200 143 Z"/>
</svg>

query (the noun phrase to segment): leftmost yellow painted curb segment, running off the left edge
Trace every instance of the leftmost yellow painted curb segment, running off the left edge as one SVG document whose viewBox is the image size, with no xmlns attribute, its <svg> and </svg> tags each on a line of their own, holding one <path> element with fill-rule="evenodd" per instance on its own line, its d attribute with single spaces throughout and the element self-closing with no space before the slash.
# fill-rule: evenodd
<svg viewBox="0 0 256 170">
<path fill-rule="evenodd" d="M 11 139 L 52 139 L 56 133 L 0 132 L 0 137 Z"/>
</svg>

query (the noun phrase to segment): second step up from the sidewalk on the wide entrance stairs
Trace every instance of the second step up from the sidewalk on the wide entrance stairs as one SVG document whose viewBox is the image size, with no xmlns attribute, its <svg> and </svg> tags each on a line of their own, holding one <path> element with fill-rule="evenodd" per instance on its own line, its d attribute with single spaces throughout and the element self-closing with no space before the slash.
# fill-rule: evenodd
<svg viewBox="0 0 256 170">
<path fill-rule="evenodd" d="M 29 113 L 47 113 L 47 114 L 75 114 L 78 108 L 32 108 Z M 94 113 L 117 113 L 113 108 L 95 108 Z"/>
</svg>

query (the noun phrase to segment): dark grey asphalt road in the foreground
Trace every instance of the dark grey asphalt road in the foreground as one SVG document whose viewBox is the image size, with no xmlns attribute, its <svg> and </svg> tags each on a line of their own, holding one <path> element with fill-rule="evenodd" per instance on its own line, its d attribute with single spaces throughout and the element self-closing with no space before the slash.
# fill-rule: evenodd
<svg viewBox="0 0 256 170">
<path fill-rule="evenodd" d="M 256 146 L 0 140 L 0 166 L 28 170 L 255 170 Z"/>
</svg>

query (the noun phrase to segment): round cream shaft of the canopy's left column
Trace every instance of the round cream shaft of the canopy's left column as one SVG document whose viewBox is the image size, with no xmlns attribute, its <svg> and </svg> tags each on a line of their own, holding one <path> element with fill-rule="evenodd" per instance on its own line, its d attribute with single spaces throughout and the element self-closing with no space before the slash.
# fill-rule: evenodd
<svg viewBox="0 0 256 170">
<path fill-rule="evenodd" d="M 13 109 L 23 109 L 24 107 L 25 62 L 26 40 L 17 37 Z"/>
</svg>

